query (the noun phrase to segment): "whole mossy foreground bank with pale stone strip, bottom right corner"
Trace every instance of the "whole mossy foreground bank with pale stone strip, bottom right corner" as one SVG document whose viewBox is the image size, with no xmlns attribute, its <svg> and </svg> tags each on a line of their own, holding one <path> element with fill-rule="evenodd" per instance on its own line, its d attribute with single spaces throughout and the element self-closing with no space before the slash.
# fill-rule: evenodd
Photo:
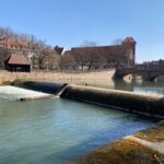
<svg viewBox="0 0 164 164">
<path fill-rule="evenodd" d="M 163 164 L 163 150 L 164 121 L 68 164 Z"/>
</svg>

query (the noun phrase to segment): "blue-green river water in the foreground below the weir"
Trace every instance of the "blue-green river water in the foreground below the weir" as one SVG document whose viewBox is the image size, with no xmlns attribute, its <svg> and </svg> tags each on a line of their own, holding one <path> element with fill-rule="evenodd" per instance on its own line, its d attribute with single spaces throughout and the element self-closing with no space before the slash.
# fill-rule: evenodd
<svg viewBox="0 0 164 164">
<path fill-rule="evenodd" d="M 0 94 L 0 164 L 60 164 L 154 124 L 61 98 L 8 97 Z"/>
</svg>

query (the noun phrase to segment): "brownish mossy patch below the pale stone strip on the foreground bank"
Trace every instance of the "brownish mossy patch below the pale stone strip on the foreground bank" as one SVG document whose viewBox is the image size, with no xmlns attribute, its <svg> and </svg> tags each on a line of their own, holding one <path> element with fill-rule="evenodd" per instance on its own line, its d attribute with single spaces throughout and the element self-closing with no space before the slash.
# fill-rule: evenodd
<svg viewBox="0 0 164 164">
<path fill-rule="evenodd" d="M 69 164 L 159 164 L 164 155 L 131 140 L 120 140 Z"/>
</svg>

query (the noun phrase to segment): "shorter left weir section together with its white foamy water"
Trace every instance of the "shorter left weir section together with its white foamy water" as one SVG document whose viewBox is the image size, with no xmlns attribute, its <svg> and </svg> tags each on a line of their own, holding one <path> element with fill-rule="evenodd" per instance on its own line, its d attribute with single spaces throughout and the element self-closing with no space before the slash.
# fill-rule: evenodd
<svg viewBox="0 0 164 164">
<path fill-rule="evenodd" d="M 0 96 L 8 99 L 30 101 L 49 98 L 60 94 L 67 84 L 34 82 L 34 81 L 14 81 L 11 85 L 0 86 Z"/>
</svg>

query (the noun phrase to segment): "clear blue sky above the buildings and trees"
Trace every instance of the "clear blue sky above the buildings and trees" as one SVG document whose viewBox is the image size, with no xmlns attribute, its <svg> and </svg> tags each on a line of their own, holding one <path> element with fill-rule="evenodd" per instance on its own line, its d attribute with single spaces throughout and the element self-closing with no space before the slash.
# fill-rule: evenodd
<svg viewBox="0 0 164 164">
<path fill-rule="evenodd" d="M 137 62 L 164 59 L 164 0 L 0 0 L 0 26 L 69 49 L 132 36 Z"/>
</svg>

